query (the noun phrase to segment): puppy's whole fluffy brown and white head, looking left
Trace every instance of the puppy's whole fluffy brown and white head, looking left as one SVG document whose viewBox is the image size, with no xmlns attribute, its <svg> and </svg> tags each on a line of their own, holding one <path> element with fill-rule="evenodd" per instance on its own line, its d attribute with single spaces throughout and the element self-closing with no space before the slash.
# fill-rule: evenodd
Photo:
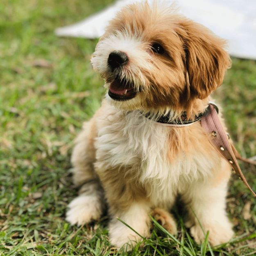
<svg viewBox="0 0 256 256">
<path fill-rule="evenodd" d="M 230 59 L 211 31 L 153 3 L 111 20 L 93 54 L 107 97 L 120 109 L 184 111 L 222 84 Z"/>
</svg>

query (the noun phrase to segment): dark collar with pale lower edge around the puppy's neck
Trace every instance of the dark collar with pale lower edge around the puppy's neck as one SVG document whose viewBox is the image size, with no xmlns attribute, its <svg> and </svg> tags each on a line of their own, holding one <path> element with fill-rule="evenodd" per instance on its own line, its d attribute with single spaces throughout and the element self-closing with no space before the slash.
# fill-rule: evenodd
<svg viewBox="0 0 256 256">
<path fill-rule="evenodd" d="M 217 106 L 213 102 L 209 102 L 209 104 L 212 104 L 215 107 L 215 109 L 218 111 Z M 201 120 L 202 116 L 204 116 L 204 113 L 208 112 L 208 109 L 209 109 L 209 105 L 204 110 L 204 112 L 200 112 L 196 114 L 192 119 L 188 119 L 186 111 L 184 111 L 179 118 L 171 121 L 170 121 L 170 113 L 160 116 L 158 118 L 152 118 L 150 113 L 143 114 L 143 116 L 145 116 L 150 120 L 154 120 L 154 122 L 157 122 L 161 125 L 167 125 L 167 126 L 173 126 L 173 127 L 184 127 L 184 126 L 192 125 L 193 123 Z"/>
</svg>

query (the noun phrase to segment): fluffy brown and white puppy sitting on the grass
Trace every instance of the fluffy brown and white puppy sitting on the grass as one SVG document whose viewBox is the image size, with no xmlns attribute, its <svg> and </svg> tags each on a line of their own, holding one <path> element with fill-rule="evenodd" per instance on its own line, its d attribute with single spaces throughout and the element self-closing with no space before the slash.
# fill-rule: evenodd
<svg viewBox="0 0 256 256">
<path fill-rule="evenodd" d="M 148 236 L 150 211 L 168 213 L 179 194 L 196 242 L 204 231 L 212 245 L 233 236 L 225 211 L 231 170 L 200 122 L 168 127 L 143 115 L 204 111 L 230 66 L 224 47 L 207 28 L 157 3 L 129 5 L 111 20 L 92 58 L 106 99 L 72 154 L 75 184 L 84 185 L 69 205 L 71 224 L 99 219 L 107 204 L 111 244 L 133 245 L 140 237 L 116 217 Z M 164 219 L 175 233 L 172 216 Z"/>
</svg>

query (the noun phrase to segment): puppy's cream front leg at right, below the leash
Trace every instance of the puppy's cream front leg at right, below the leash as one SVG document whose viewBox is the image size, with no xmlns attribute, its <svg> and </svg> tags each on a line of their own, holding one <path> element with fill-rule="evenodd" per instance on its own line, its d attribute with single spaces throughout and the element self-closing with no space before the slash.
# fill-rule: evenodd
<svg viewBox="0 0 256 256">
<path fill-rule="evenodd" d="M 228 177 L 229 175 L 227 174 Z M 204 241 L 207 231 L 208 241 L 213 246 L 228 242 L 233 236 L 232 225 L 225 211 L 227 181 L 228 179 L 213 179 L 209 182 L 197 182 L 183 195 L 188 202 L 192 224 L 190 232 L 197 243 Z"/>
</svg>

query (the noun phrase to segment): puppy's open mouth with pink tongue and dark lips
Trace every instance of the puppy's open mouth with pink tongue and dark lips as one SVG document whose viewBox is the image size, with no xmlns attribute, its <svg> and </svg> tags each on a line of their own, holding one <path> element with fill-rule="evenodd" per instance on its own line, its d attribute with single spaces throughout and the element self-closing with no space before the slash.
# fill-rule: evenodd
<svg viewBox="0 0 256 256">
<path fill-rule="evenodd" d="M 130 100 L 136 96 L 133 84 L 126 79 L 116 79 L 109 85 L 109 97 L 113 100 Z"/>
</svg>

